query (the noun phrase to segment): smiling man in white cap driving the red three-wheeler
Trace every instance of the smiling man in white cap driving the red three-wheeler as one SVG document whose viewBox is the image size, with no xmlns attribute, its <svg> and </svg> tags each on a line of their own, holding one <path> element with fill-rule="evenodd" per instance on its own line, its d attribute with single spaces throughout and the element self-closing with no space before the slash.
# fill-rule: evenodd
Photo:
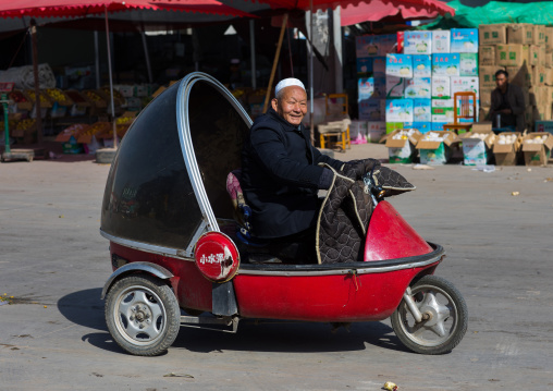
<svg viewBox="0 0 553 391">
<path fill-rule="evenodd" d="M 306 113 L 304 84 L 297 78 L 281 81 L 268 112 L 251 125 L 242 154 L 242 187 L 251 208 L 251 234 L 280 243 L 280 255 L 298 261 L 315 253 L 318 191 L 328 190 L 334 178 L 332 170 L 318 164 L 336 171 L 344 167 L 311 145 L 310 133 L 302 124 Z M 360 164 L 359 173 L 371 168 L 370 162 Z M 355 175 L 352 167 L 345 171 Z"/>
</svg>

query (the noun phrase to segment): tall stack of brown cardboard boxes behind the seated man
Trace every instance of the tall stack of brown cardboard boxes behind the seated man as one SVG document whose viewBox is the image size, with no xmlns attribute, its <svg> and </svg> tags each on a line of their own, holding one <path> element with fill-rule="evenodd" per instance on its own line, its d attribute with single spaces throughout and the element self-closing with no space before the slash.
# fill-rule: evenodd
<svg viewBox="0 0 553 391">
<path fill-rule="evenodd" d="M 519 86 L 525 94 L 527 130 L 531 130 L 536 121 L 550 120 L 553 102 L 553 27 L 532 24 L 481 25 L 479 38 L 480 115 L 490 111 L 495 72 L 506 70 L 509 82 Z"/>
</svg>

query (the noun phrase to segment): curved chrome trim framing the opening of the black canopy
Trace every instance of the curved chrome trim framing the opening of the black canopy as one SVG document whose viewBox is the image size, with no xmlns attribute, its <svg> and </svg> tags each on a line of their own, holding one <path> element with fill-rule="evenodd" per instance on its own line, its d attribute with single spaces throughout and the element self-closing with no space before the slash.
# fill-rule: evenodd
<svg viewBox="0 0 553 391">
<path fill-rule="evenodd" d="M 199 167 L 196 160 L 196 155 L 194 152 L 194 145 L 191 136 L 191 126 L 188 121 L 188 97 L 192 90 L 192 87 L 197 82 L 206 82 L 214 87 L 219 93 L 221 93 L 230 103 L 238 111 L 241 117 L 251 125 L 251 119 L 248 117 L 244 108 L 239 105 L 239 102 L 234 98 L 234 96 L 216 78 L 211 77 L 208 74 L 201 72 L 194 72 L 188 74 L 181 81 L 181 85 L 179 86 L 179 93 L 176 96 L 176 123 L 179 126 L 179 140 L 181 143 L 181 149 L 183 151 L 184 162 L 186 164 L 186 170 L 191 178 L 191 183 L 194 188 L 194 194 L 196 195 L 196 199 L 198 200 L 199 208 L 204 216 L 204 221 L 206 221 L 205 227 L 200 227 L 198 231 L 195 233 L 194 237 L 199 237 L 204 232 L 207 231 L 220 231 L 219 224 L 217 223 L 217 218 L 213 213 L 211 205 L 209 204 L 209 198 L 206 193 L 206 188 L 204 186 L 204 181 L 201 180 L 201 173 L 199 171 Z M 187 254 L 191 254 L 191 246 L 194 247 L 195 243 L 192 242 L 188 244 Z"/>
</svg>

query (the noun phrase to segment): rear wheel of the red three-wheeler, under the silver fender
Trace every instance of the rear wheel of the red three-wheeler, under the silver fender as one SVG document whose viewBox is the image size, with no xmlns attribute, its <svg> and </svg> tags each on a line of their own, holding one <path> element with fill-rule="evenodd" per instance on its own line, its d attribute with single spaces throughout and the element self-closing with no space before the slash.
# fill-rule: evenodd
<svg viewBox="0 0 553 391">
<path fill-rule="evenodd" d="M 173 291 L 150 276 L 132 274 L 115 282 L 108 292 L 105 314 L 113 340 L 137 356 L 165 352 L 181 326 Z"/>
</svg>

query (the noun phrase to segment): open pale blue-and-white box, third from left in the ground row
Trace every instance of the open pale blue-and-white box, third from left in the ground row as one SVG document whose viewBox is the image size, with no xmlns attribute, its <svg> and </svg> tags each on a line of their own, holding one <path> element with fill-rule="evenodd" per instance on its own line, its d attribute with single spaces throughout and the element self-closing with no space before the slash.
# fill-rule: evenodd
<svg viewBox="0 0 553 391">
<path fill-rule="evenodd" d="M 475 135 L 486 135 L 484 138 L 475 137 Z M 465 166 L 484 166 L 492 160 L 492 146 L 495 140 L 495 134 L 492 131 L 491 122 L 486 124 L 475 123 L 472 130 L 462 134 L 459 138 L 463 142 L 463 162 Z"/>
</svg>

